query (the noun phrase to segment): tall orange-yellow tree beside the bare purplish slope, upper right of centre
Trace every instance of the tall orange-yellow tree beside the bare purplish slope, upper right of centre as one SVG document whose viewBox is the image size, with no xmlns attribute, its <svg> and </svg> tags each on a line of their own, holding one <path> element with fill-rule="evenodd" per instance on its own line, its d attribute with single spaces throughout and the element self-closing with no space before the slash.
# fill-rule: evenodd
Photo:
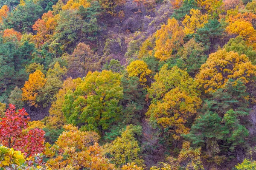
<svg viewBox="0 0 256 170">
<path fill-rule="evenodd" d="M 174 18 L 168 20 L 168 24 L 163 24 L 156 33 L 156 46 L 154 57 L 164 61 L 174 57 L 174 53 L 183 44 L 185 33 L 178 21 Z"/>
</svg>

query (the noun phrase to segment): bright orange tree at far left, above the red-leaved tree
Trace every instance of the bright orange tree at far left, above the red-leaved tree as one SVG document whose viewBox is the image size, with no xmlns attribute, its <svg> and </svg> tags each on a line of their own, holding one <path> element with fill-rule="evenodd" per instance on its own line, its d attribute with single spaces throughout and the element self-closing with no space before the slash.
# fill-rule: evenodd
<svg viewBox="0 0 256 170">
<path fill-rule="evenodd" d="M 27 101 L 31 106 L 38 107 L 36 98 L 45 83 L 45 76 L 40 70 L 36 70 L 34 73 L 30 74 L 29 80 L 25 82 L 22 88 L 22 100 Z"/>
</svg>

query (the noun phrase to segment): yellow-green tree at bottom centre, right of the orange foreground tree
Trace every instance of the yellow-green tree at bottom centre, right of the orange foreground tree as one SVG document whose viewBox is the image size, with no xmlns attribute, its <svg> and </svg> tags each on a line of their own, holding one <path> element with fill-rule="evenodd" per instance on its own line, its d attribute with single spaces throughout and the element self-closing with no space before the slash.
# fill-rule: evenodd
<svg viewBox="0 0 256 170">
<path fill-rule="evenodd" d="M 134 137 L 134 130 L 136 130 L 136 126 L 128 125 L 121 137 L 117 137 L 110 145 L 106 146 L 106 152 L 111 155 L 111 159 L 119 167 L 132 162 L 143 165 L 143 160 L 139 157 L 140 147 Z"/>
</svg>

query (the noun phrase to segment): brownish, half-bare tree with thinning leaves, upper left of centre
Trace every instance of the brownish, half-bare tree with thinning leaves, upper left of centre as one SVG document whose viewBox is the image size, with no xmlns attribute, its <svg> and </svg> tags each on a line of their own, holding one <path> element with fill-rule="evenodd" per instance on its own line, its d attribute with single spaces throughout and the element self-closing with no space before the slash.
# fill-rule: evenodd
<svg viewBox="0 0 256 170">
<path fill-rule="evenodd" d="M 85 77 L 89 71 L 96 71 L 100 68 L 100 60 L 97 54 L 94 54 L 89 45 L 80 42 L 69 60 L 69 71 L 71 77 Z"/>
</svg>

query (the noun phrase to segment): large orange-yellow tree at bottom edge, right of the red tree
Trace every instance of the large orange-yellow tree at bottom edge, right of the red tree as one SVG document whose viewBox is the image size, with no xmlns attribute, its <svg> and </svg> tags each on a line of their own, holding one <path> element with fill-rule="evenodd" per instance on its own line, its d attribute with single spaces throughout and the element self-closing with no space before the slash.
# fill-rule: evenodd
<svg viewBox="0 0 256 170">
<path fill-rule="evenodd" d="M 99 139 L 96 133 L 82 132 L 72 125 L 65 125 L 64 128 L 66 131 L 52 146 L 53 154 L 49 155 L 48 167 L 52 169 L 114 169 L 113 164 L 108 163 L 108 160 L 102 156 L 101 147 L 96 143 Z M 55 156 L 55 153 L 58 154 Z"/>
</svg>

